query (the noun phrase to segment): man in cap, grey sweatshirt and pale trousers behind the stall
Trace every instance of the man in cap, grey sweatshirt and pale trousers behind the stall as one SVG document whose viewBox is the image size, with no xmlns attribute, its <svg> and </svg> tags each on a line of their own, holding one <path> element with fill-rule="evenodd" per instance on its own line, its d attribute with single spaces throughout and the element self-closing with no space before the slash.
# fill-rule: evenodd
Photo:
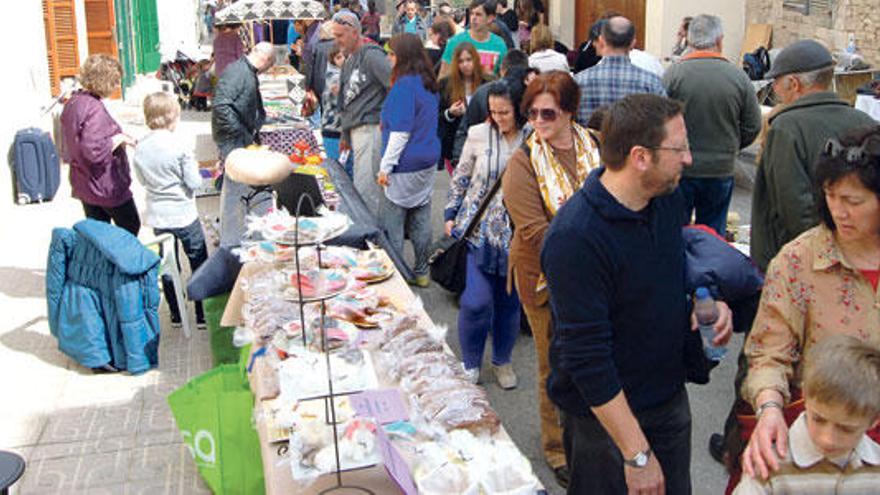
<svg viewBox="0 0 880 495">
<path fill-rule="evenodd" d="M 339 116 L 342 123 L 340 152 L 354 156 L 354 187 L 370 211 L 377 215 L 382 191 L 376 183 L 382 159 L 379 114 L 391 87 L 391 63 L 378 45 L 361 37 L 356 15 L 342 10 L 333 16 L 333 37 L 348 55 L 342 66 Z"/>
</svg>

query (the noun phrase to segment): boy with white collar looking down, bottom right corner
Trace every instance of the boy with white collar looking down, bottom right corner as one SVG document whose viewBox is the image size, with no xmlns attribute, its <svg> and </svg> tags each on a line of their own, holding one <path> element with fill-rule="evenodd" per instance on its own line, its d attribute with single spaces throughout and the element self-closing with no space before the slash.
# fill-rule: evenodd
<svg viewBox="0 0 880 495">
<path fill-rule="evenodd" d="M 880 493 L 880 349 L 837 335 L 804 364 L 805 411 L 791 425 L 788 456 L 766 481 L 743 475 L 734 495 Z"/>
</svg>

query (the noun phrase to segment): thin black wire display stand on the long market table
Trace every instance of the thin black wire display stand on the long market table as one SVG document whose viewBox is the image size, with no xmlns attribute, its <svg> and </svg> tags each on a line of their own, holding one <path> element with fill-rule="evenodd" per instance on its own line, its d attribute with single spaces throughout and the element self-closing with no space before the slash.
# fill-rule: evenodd
<svg viewBox="0 0 880 495">
<path fill-rule="evenodd" d="M 324 357 L 326 358 L 327 364 L 327 395 L 324 396 L 324 420 L 327 424 L 329 424 L 333 428 L 333 450 L 336 457 L 336 486 L 332 486 L 327 488 L 320 493 L 323 495 L 325 493 L 333 493 L 337 491 L 345 490 L 347 492 L 360 492 L 366 493 L 369 495 L 375 495 L 372 491 L 355 485 L 345 485 L 342 483 L 342 463 L 339 457 L 339 431 L 338 431 L 338 421 L 336 420 L 336 394 L 333 390 L 333 369 L 330 364 L 330 347 L 327 342 L 327 332 L 325 331 L 324 318 L 327 314 L 327 299 L 335 297 L 336 294 L 332 295 L 324 295 L 321 297 L 315 298 L 315 300 L 306 301 L 303 299 L 302 292 L 302 277 L 300 277 L 300 260 L 299 260 L 299 250 L 302 247 L 314 246 L 315 248 L 315 256 L 317 258 L 318 263 L 318 271 L 321 270 L 321 251 L 326 249 L 323 244 L 323 241 L 327 239 L 319 239 L 315 242 L 309 243 L 300 243 L 299 241 L 299 219 L 300 212 L 302 211 L 304 201 L 308 201 L 309 206 L 311 207 L 310 211 L 315 211 L 315 203 L 312 200 L 311 196 L 308 194 L 303 194 L 300 196 L 296 205 L 296 212 L 294 214 L 295 217 L 295 229 L 293 234 L 293 248 L 294 248 L 294 264 L 296 267 L 296 284 L 297 284 L 297 302 L 299 304 L 299 318 L 300 318 L 300 326 L 302 330 L 302 338 L 303 338 L 303 348 L 308 349 L 308 339 L 306 334 L 306 321 L 305 321 L 305 306 L 310 303 L 320 304 L 320 325 L 319 325 L 319 333 L 321 335 L 321 352 L 324 353 Z M 348 469 L 347 471 L 357 471 L 359 469 L 366 469 L 370 466 L 363 466 L 359 468 Z"/>
</svg>

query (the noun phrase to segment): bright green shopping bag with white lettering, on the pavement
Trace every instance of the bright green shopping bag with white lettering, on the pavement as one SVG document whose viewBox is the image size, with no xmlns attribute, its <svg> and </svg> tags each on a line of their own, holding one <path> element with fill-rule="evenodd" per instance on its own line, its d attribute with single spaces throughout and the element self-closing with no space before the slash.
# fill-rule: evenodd
<svg viewBox="0 0 880 495">
<path fill-rule="evenodd" d="M 265 492 L 254 395 L 238 364 L 218 366 L 168 396 L 202 478 L 216 494 Z"/>
</svg>

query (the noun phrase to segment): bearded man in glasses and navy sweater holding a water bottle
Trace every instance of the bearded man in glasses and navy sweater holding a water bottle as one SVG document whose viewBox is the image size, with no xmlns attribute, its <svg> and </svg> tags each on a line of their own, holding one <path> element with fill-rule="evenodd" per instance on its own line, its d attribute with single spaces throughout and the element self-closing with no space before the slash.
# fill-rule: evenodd
<svg viewBox="0 0 880 495">
<path fill-rule="evenodd" d="M 547 393 L 563 413 L 570 494 L 691 493 L 684 383 L 694 328 L 676 191 L 691 153 L 682 113 L 656 95 L 612 105 L 603 166 L 544 238 L 554 321 Z M 716 306 L 723 345 L 731 315 Z"/>
</svg>

